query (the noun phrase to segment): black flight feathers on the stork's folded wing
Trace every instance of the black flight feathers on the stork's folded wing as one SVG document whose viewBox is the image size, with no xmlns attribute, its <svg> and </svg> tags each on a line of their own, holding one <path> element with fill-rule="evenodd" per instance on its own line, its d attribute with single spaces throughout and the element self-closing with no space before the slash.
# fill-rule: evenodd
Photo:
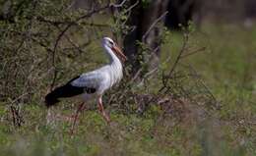
<svg viewBox="0 0 256 156">
<path fill-rule="evenodd" d="M 80 76 L 76 78 L 80 78 Z M 57 102 L 59 102 L 58 98 L 72 97 L 72 96 L 80 95 L 84 92 L 87 92 L 87 93 L 96 92 L 96 88 L 73 86 L 71 82 L 76 78 L 72 78 L 65 85 L 59 86 L 55 88 L 53 91 L 51 91 L 50 93 L 48 93 L 45 96 L 46 106 L 49 107 L 56 104 Z"/>
</svg>

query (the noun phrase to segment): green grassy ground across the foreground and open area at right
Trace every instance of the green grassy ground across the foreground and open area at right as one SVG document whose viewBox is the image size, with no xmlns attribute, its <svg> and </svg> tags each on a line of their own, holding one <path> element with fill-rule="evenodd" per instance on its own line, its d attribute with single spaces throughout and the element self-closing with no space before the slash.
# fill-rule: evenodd
<svg viewBox="0 0 256 156">
<path fill-rule="evenodd" d="M 168 55 L 174 60 L 182 35 L 170 32 L 167 40 L 162 60 Z M 256 155 L 255 40 L 256 28 L 230 25 L 206 24 L 191 34 L 190 50 L 206 50 L 182 63 L 193 65 L 221 101 L 222 109 L 211 118 L 202 120 L 200 110 L 184 111 L 180 119 L 160 118 L 158 106 L 143 117 L 108 108 L 112 122 L 106 125 L 96 111 L 89 110 L 71 136 L 69 122 L 46 126 L 41 104 L 24 106 L 26 123 L 20 129 L 11 126 L 8 110 L 0 106 L 1 155 Z M 54 111 L 71 113 L 64 106 Z"/>
</svg>

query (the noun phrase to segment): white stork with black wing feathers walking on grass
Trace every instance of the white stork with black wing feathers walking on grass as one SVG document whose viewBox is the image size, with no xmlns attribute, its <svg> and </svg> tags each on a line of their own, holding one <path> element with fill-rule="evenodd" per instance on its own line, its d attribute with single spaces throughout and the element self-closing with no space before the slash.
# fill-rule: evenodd
<svg viewBox="0 0 256 156">
<path fill-rule="evenodd" d="M 76 112 L 73 129 L 79 113 L 84 109 L 85 102 L 95 98 L 97 99 L 97 106 L 100 114 L 106 122 L 110 121 L 109 116 L 103 109 L 102 95 L 123 77 L 121 61 L 124 62 L 127 58 L 116 43 L 109 37 L 104 37 L 102 39 L 102 47 L 109 59 L 107 65 L 96 71 L 72 78 L 65 85 L 55 88 L 45 96 L 45 105 L 48 108 L 59 102 L 60 98 L 78 96 L 83 101 Z"/>
</svg>

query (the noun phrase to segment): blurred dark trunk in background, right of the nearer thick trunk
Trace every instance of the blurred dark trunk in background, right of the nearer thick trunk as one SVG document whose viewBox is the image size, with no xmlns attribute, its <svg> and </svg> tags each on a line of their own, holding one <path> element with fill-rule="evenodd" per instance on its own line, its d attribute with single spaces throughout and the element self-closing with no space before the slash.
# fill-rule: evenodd
<svg viewBox="0 0 256 156">
<path fill-rule="evenodd" d="M 192 21 L 193 13 L 199 9 L 198 4 L 199 0 L 169 0 L 165 26 L 172 29 L 180 29 L 180 25 L 187 26 Z"/>
</svg>

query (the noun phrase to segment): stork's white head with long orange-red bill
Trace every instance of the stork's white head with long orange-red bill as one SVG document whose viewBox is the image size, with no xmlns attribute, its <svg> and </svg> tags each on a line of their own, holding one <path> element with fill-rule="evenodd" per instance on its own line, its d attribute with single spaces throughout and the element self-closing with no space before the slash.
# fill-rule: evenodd
<svg viewBox="0 0 256 156">
<path fill-rule="evenodd" d="M 123 54 L 122 50 L 118 47 L 118 45 L 109 37 L 103 37 L 102 39 L 103 46 L 108 47 L 114 52 L 114 54 L 121 59 L 123 62 L 127 60 L 127 57 Z"/>
</svg>

